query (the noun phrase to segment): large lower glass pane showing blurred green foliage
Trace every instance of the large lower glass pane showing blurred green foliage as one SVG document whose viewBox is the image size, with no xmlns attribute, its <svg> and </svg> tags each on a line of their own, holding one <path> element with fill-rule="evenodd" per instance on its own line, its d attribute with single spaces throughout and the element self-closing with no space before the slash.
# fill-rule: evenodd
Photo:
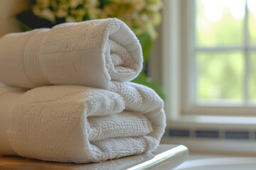
<svg viewBox="0 0 256 170">
<path fill-rule="evenodd" d="M 242 101 L 243 57 L 240 52 L 198 52 L 197 101 Z"/>
</svg>

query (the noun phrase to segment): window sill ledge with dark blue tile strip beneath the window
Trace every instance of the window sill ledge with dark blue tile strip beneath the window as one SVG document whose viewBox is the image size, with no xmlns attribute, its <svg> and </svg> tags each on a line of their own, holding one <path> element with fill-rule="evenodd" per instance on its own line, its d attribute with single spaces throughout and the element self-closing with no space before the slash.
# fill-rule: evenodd
<svg viewBox="0 0 256 170">
<path fill-rule="evenodd" d="M 256 118 L 181 115 L 169 121 L 161 143 L 181 144 L 192 152 L 256 154 Z"/>
</svg>

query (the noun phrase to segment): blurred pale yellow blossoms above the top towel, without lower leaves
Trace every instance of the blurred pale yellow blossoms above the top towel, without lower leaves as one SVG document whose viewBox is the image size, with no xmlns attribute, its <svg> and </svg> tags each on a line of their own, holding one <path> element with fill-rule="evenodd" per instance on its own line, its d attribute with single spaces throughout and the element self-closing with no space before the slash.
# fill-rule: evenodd
<svg viewBox="0 0 256 170">
<path fill-rule="evenodd" d="M 156 38 L 155 26 L 161 21 L 162 0 L 36 0 L 32 11 L 55 24 L 55 18 L 78 22 L 97 18 L 119 18 L 139 35 Z"/>
</svg>

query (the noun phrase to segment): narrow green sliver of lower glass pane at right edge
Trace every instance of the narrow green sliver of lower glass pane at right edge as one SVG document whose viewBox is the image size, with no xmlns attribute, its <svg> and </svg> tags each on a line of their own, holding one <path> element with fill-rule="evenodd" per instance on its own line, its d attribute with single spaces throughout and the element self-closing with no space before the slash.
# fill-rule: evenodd
<svg viewBox="0 0 256 170">
<path fill-rule="evenodd" d="M 256 52 L 250 53 L 250 79 L 249 79 L 249 96 L 256 102 Z"/>
</svg>

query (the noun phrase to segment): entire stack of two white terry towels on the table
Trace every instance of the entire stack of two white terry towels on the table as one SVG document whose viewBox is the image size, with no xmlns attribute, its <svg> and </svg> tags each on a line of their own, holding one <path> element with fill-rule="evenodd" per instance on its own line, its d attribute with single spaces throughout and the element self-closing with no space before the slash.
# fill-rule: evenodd
<svg viewBox="0 0 256 170">
<path fill-rule="evenodd" d="M 131 81 L 142 48 L 116 18 L 0 39 L 0 154 L 101 162 L 159 145 L 164 103 Z"/>
</svg>

